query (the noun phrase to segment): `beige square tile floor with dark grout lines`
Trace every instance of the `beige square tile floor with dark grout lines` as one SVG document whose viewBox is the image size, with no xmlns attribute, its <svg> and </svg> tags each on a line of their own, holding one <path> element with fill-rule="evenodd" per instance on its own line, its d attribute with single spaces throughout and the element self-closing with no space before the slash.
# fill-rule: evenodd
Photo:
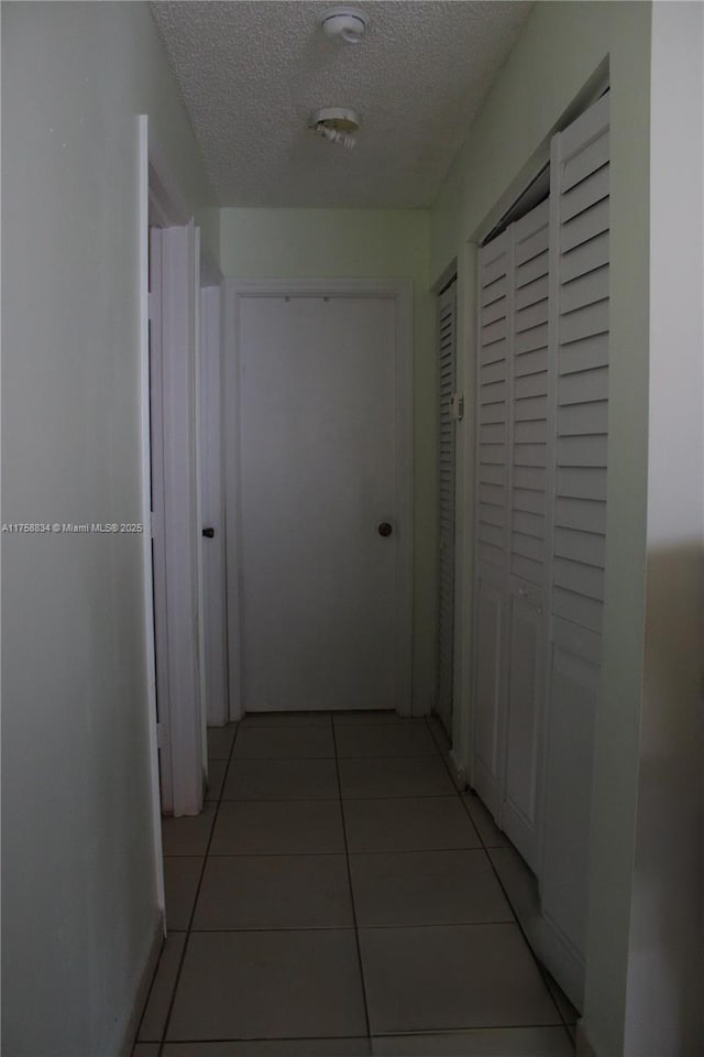
<svg viewBox="0 0 704 1057">
<path fill-rule="evenodd" d="M 168 939 L 134 1057 L 570 1057 L 435 721 L 248 716 L 165 819 Z"/>
</svg>

